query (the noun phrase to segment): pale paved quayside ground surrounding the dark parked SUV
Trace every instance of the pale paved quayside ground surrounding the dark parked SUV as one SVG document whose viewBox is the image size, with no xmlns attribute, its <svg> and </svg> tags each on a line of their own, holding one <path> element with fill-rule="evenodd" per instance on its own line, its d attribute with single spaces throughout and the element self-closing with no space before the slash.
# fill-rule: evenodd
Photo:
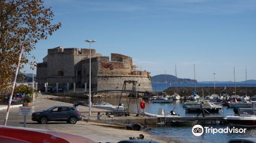
<svg viewBox="0 0 256 143">
<path fill-rule="evenodd" d="M 52 100 L 44 99 L 46 96 L 38 96 L 36 101 L 34 102 L 34 106 L 32 108 L 33 111 L 47 109 L 49 107 L 55 105 L 68 105 L 72 106 L 69 103 L 57 102 Z M 82 112 L 88 112 L 89 107 L 78 106 L 78 109 Z M 97 112 L 104 111 L 97 108 L 92 108 L 92 115 L 90 118 L 97 118 Z M 4 118 L 6 115 L 6 110 L 0 110 L 0 124 L 4 124 Z M 18 114 L 18 108 L 11 108 L 7 126 L 24 126 L 24 116 Z M 113 127 L 112 127 L 113 126 Z M 35 129 L 45 129 L 51 131 L 58 131 L 64 133 L 71 133 L 75 135 L 80 135 L 83 137 L 87 137 L 95 142 L 118 142 L 120 140 L 129 139 L 129 137 L 138 137 L 140 134 L 145 135 L 145 139 L 153 139 L 153 140 L 160 140 L 160 142 L 175 142 L 170 139 L 164 138 L 162 136 L 153 136 L 147 134 L 144 131 L 133 131 L 133 130 L 126 130 L 123 128 L 119 128 L 115 125 L 108 125 L 108 124 L 101 124 L 101 123 L 94 123 L 89 122 L 86 123 L 84 121 L 79 121 L 77 124 L 72 125 L 66 122 L 48 122 L 48 124 L 42 125 L 38 124 L 37 122 L 33 122 L 31 120 L 31 115 L 27 116 L 27 128 L 35 128 Z"/>
</svg>

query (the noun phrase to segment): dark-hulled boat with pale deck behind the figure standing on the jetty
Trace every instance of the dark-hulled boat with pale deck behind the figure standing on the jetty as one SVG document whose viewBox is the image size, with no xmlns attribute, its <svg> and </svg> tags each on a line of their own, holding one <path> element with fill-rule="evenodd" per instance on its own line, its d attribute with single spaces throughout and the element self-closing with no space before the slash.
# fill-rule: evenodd
<svg viewBox="0 0 256 143">
<path fill-rule="evenodd" d="M 215 105 L 214 103 L 211 103 L 211 102 L 205 101 L 205 100 L 203 102 L 204 102 L 204 109 L 206 110 L 206 112 L 216 113 L 222 109 L 222 106 L 220 106 L 220 105 Z M 200 105 L 186 106 L 185 110 L 187 112 L 200 112 L 201 111 Z"/>
</svg>

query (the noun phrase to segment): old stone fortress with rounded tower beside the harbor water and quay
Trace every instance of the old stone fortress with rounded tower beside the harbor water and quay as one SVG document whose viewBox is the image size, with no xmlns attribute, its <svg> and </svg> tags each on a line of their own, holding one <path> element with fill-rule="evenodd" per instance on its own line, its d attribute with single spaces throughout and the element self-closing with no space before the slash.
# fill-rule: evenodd
<svg viewBox="0 0 256 143">
<path fill-rule="evenodd" d="M 48 55 L 37 64 L 36 80 L 38 88 L 50 86 L 65 91 L 89 89 L 90 49 L 66 48 L 61 46 L 48 49 Z M 138 81 L 138 92 L 152 92 L 151 76 L 141 71 L 131 57 L 121 54 L 102 56 L 91 49 L 91 90 L 120 91 L 125 80 Z M 127 90 L 132 84 L 126 85 Z"/>
</svg>

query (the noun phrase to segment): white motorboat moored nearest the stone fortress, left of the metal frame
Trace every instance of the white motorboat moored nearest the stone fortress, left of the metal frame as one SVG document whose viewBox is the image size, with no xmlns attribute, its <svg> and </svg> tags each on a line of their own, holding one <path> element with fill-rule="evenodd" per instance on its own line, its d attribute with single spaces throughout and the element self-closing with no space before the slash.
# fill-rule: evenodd
<svg viewBox="0 0 256 143">
<path fill-rule="evenodd" d="M 101 103 L 95 103 L 92 104 L 91 107 L 93 108 L 99 108 L 99 109 L 104 109 L 104 110 L 111 110 L 111 111 L 125 111 L 126 108 L 123 106 L 123 104 L 120 104 L 119 107 L 112 105 L 107 102 L 101 102 Z"/>
</svg>

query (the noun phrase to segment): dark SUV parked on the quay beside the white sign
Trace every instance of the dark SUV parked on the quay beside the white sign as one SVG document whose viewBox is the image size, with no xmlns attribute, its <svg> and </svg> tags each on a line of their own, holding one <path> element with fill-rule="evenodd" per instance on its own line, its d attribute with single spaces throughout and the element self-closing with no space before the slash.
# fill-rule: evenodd
<svg viewBox="0 0 256 143">
<path fill-rule="evenodd" d="M 49 121 L 66 121 L 76 124 L 80 120 L 82 120 L 81 112 L 76 107 L 71 106 L 53 106 L 32 114 L 32 121 L 40 124 L 46 124 Z"/>
</svg>

